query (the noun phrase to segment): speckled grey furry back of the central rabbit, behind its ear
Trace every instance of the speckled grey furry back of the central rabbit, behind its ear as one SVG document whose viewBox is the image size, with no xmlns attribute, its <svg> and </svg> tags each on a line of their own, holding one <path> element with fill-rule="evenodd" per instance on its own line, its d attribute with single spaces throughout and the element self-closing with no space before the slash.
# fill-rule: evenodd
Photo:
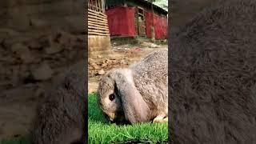
<svg viewBox="0 0 256 144">
<path fill-rule="evenodd" d="M 154 113 L 168 107 L 168 50 L 155 51 L 142 61 L 130 66 L 134 83 Z M 155 111 L 154 111 L 155 110 Z"/>
</svg>

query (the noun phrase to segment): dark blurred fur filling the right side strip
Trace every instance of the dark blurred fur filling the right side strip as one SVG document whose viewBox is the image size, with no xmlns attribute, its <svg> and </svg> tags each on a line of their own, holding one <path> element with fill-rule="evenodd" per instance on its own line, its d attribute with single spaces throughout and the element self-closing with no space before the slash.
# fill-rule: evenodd
<svg viewBox="0 0 256 144">
<path fill-rule="evenodd" d="M 198 14 L 172 40 L 174 143 L 256 143 L 256 1 Z"/>
</svg>

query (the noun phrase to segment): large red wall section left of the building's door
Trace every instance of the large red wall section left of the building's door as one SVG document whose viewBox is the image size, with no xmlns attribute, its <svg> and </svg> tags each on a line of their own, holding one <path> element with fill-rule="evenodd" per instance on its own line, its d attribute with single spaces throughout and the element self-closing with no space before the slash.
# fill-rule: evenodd
<svg viewBox="0 0 256 144">
<path fill-rule="evenodd" d="M 118 6 L 106 10 L 111 35 L 135 36 L 134 7 Z"/>
</svg>

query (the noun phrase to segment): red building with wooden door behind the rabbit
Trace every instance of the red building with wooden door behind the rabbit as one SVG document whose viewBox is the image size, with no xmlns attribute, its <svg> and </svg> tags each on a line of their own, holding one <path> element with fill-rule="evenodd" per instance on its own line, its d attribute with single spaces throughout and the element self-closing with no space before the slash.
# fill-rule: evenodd
<svg viewBox="0 0 256 144">
<path fill-rule="evenodd" d="M 167 38 L 166 10 L 153 5 L 156 39 Z M 151 38 L 152 8 L 145 0 L 106 0 L 106 15 L 111 36 Z"/>
</svg>

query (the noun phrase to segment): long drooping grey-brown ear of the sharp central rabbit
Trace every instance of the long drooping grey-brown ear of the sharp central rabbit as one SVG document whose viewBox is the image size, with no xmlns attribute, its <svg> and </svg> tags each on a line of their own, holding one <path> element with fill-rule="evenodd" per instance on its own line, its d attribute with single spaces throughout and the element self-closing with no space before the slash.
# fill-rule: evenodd
<svg viewBox="0 0 256 144">
<path fill-rule="evenodd" d="M 115 92 L 121 98 L 126 119 L 132 124 L 148 121 L 149 106 L 135 87 L 131 71 L 119 70 L 116 73 L 115 84 Z"/>
</svg>

